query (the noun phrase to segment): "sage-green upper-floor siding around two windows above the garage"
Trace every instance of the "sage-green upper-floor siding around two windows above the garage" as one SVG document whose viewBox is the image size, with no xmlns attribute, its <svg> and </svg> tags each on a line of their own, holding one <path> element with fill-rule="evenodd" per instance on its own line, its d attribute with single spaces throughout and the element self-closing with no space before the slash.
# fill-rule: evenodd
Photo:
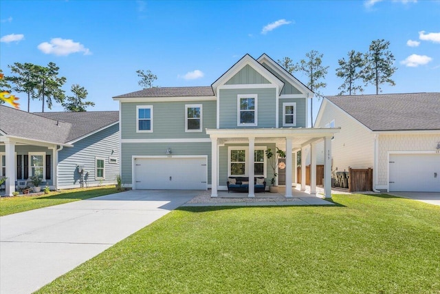
<svg viewBox="0 0 440 294">
<path fill-rule="evenodd" d="M 185 105 L 202 105 L 202 132 L 185 132 Z M 136 106 L 153 105 L 153 132 L 136 132 Z M 209 138 L 205 129 L 216 127 L 216 101 L 121 103 L 122 139 Z"/>
</svg>

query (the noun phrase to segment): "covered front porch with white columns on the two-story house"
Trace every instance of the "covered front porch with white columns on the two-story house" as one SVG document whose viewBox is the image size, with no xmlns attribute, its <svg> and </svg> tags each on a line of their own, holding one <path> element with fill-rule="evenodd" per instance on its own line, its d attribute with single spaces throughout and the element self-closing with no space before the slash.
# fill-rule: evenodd
<svg viewBox="0 0 440 294">
<path fill-rule="evenodd" d="M 296 175 L 296 157 L 298 151 L 301 151 L 301 162 L 306 161 L 307 154 L 311 159 L 311 186 L 310 193 L 316 195 L 316 144 L 324 141 L 325 145 L 325 170 L 324 170 L 324 198 L 331 198 L 331 138 L 339 132 L 339 128 L 280 128 L 280 129 L 206 129 L 210 136 L 211 155 L 212 155 L 212 189 L 211 197 L 218 197 L 219 191 L 225 186 L 221 185 L 228 176 L 234 176 L 231 173 L 231 160 L 228 154 L 228 168 L 225 169 L 224 147 L 232 145 L 241 145 L 245 160 L 241 160 L 243 176 L 253 179 L 261 176 L 260 170 L 256 173 L 256 167 L 261 163 L 256 161 L 256 150 L 275 145 L 285 150 L 285 187 L 293 187 L 298 177 L 301 177 L 300 191 L 305 191 L 305 169 L 302 169 L 301 175 Z M 229 147 L 232 148 L 232 147 Z M 228 149 L 229 150 L 229 149 Z M 221 152 L 222 151 L 222 152 Z M 228 151 L 229 152 L 229 151 Z M 223 157 L 221 156 L 223 155 Z M 265 159 L 266 160 L 266 159 Z M 254 162 L 254 164 L 250 163 Z M 264 161 L 265 165 L 265 161 Z M 266 166 L 267 167 L 267 166 Z M 276 171 L 278 173 L 278 170 Z M 270 177 L 265 171 L 266 182 L 270 182 Z M 285 189 L 283 196 L 293 198 L 292 189 Z M 248 198 L 256 197 L 254 181 L 249 181 Z"/>
</svg>

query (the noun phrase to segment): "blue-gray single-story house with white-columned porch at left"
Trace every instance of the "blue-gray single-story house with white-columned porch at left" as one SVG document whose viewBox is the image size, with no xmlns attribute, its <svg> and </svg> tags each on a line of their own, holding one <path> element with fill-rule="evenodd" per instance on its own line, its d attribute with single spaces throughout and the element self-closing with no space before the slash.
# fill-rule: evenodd
<svg viewBox="0 0 440 294">
<path fill-rule="evenodd" d="M 0 177 L 5 194 L 40 176 L 51 189 L 115 183 L 118 112 L 28 113 L 0 105 Z M 79 171 L 83 171 L 80 173 Z"/>
</svg>

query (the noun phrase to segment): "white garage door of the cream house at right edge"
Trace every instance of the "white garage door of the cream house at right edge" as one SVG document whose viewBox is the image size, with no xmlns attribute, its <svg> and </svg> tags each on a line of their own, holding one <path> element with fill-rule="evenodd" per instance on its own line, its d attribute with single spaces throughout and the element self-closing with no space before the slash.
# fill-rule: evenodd
<svg viewBox="0 0 440 294">
<path fill-rule="evenodd" d="M 390 154 L 390 191 L 440 192 L 440 154 Z"/>
</svg>

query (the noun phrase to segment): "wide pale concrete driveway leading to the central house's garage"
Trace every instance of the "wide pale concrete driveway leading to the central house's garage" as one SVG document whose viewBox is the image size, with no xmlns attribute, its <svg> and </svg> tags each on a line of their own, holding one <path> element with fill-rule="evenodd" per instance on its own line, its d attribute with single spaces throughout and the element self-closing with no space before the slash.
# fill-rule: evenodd
<svg viewBox="0 0 440 294">
<path fill-rule="evenodd" d="M 126 191 L 0 218 L 0 293 L 32 293 L 200 191 Z"/>
</svg>

